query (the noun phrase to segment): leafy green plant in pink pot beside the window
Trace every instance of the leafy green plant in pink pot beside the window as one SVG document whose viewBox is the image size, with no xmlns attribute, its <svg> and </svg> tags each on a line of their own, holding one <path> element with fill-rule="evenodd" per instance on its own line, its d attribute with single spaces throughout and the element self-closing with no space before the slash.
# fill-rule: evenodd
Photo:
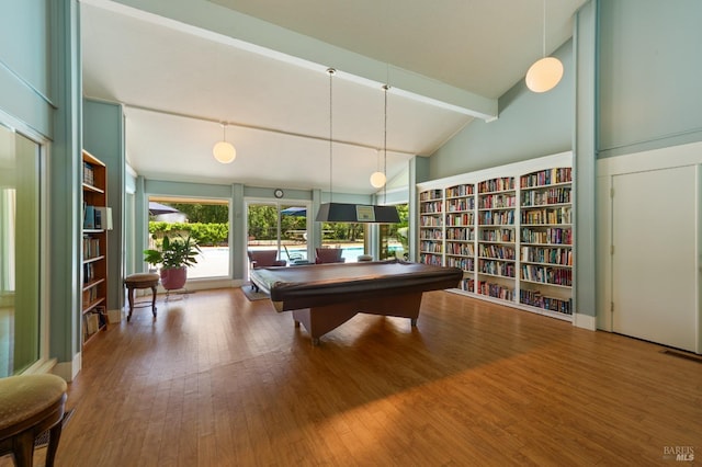
<svg viewBox="0 0 702 467">
<path fill-rule="evenodd" d="M 167 291 L 183 288 L 188 280 L 188 266 L 197 263 L 200 246 L 190 235 L 169 238 L 167 235 L 161 240 L 158 249 L 144 250 L 144 261 L 156 266 L 161 265 L 161 285 Z"/>
</svg>

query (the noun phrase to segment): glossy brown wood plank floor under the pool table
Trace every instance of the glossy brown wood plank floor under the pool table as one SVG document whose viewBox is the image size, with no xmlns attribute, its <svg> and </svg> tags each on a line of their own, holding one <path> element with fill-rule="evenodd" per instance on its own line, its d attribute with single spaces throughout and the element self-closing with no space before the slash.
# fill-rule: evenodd
<svg viewBox="0 0 702 467">
<path fill-rule="evenodd" d="M 359 315 L 318 348 L 238 288 L 158 307 L 86 350 L 58 466 L 702 458 L 702 364 L 660 345 L 445 292 L 424 295 L 416 329 Z"/>
</svg>

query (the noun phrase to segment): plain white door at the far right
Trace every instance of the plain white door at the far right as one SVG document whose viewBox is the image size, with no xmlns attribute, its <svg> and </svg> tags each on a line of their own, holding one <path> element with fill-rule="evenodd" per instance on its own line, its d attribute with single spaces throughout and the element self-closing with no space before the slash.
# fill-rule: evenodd
<svg viewBox="0 0 702 467">
<path fill-rule="evenodd" d="M 695 167 L 614 175 L 612 329 L 697 351 Z"/>
</svg>

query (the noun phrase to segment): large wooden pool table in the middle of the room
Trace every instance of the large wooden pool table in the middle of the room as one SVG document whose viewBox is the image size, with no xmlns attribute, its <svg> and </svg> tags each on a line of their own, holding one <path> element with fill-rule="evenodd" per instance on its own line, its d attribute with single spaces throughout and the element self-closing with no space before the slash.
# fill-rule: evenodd
<svg viewBox="0 0 702 467">
<path fill-rule="evenodd" d="M 251 282 L 278 311 L 293 311 L 314 345 L 358 312 L 409 318 L 417 324 L 422 293 L 456 287 L 457 267 L 406 261 L 310 264 L 251 270 Z"/>
</svg>

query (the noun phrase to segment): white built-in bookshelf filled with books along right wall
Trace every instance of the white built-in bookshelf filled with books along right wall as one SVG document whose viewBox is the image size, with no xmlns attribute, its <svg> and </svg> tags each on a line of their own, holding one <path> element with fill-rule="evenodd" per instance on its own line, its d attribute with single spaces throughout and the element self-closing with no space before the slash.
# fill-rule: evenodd
<svg viewBox="0 0 702 467">
<path fill-rule="evenodd" d="M 418 185 L 419 261 L 461 267 L 461 294 L 573 319 L 570 152 Z"/>
</svg>

